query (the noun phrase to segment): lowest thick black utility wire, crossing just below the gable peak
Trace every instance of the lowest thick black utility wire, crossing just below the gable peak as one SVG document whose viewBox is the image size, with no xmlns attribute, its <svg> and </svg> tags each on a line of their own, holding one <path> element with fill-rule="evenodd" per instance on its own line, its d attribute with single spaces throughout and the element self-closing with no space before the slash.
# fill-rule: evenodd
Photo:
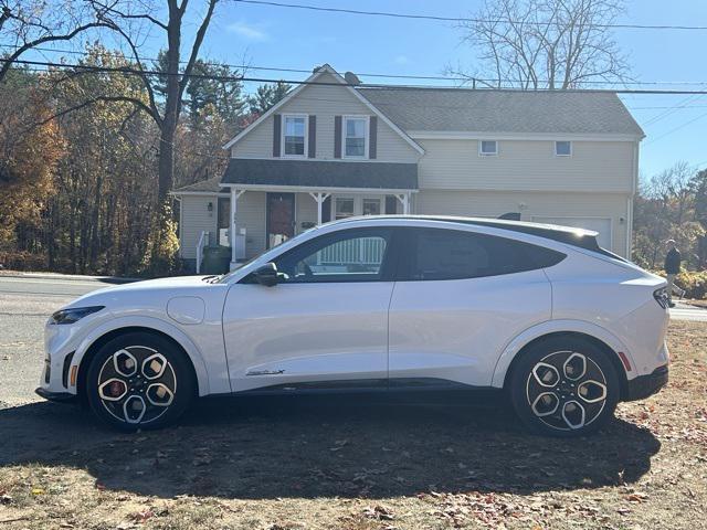
<svg viewBox="0 0 707 530">
<path fill-rule="evenodd" d="M 707 95 L 707 89 L 644 89 L 644 88 L 567 88 L 567 89 L 549 89 L 549 88 L 539 88 L 536 91 L 524 91 L 517 87 L 484 87 L 484 88 L 468 88 L 468 87 L 458 87 L 458 86 L 433 86 L 433 85 L 389 85 L 389 84 L 374 84 L 374 83 L 339 83 L 339 82 L 321 82 L 321 81 L 299 81 L 299 80 L 277 80 L 272 77 L 251 77 L 244 75 L 212 75 L 212 74 L 183 74 L 183 73 L 168 73 L 160 72 L 157 70 L 139 70 L 128 66 L 94 66 L 87 64 L 68 64 L 68 63 L 54 63 L 50 61 L 29 61 L 29 60 L 14 60 L 11 61 L 9 59 L 0 59 L 0 62 L 3 63 L 17 63 L 24 64 L 29 66 L 45 66 L 45 67 L 54 67 L 61 70 L 77 70 L 84 72 L 92 73 L 122 73 L 127 75 L 138 75 L 138 76 L 177 76 L 177 77 L 189 77 L 189 78 L 200 78 L 200 80 L 211 80 L 211 81 L 220 81 L 220 82 L 256 82 L 256 83 L 287 83 L 289 85 L 318 85 L 318 86 L 350 86 L 350 87 L 360 87 L 360 88 L 381 88 L 381 89 L 395 89 L 395 91 L 419 91 L 419 89 L 447 89 L 447 91 L 486 91 L 486 92 L 558 92 L 558 93 L 612 93 L 612 94 L 699 94 Z M 34 68 L 38 72 L 43 72 L 42 68 Z M 494 80 L 498 81 L 498 80 Z M 502 82 L 515 83 L 513 80 L 502 80 Z M 700 85 L 707 84 L 707 82 L 699 83 Z"/>
</svg>

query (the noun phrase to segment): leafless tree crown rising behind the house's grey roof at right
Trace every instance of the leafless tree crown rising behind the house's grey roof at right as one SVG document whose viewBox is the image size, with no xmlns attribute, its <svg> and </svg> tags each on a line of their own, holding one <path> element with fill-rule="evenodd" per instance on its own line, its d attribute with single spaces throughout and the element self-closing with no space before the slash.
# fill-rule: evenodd
<svg viewBox="0 0 707 530">
<path fill-rule="evenodd" d="M 577 88 L 618 82 L 629 67 L 610 24 L 623 0 L 487 0 L 463 22 L 463 42 L 478 51 L 475 72 L 447 68 L 493 87 Z"/>
</svg>

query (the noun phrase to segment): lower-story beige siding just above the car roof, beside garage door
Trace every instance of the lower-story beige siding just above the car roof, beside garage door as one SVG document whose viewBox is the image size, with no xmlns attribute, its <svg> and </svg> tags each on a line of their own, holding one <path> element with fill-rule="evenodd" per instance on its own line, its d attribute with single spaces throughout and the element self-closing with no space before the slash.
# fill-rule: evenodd
<svg viewBox="0 0 707 530">
<path fill-rule="evenodd" d="M 608 250 L 626 255 L 627 193 L 552 193 L 513 191 L 441 191 L 421 190 L 415 194 L 414 213 L 423 215 L 468 215 L 497 218 L 520 212 L 523 221 L 534 219 L 567 219 L 581 226 L 582 219 L 593 230 L 603 219 L 611 223 L 612 242 Z"/>
</svg>

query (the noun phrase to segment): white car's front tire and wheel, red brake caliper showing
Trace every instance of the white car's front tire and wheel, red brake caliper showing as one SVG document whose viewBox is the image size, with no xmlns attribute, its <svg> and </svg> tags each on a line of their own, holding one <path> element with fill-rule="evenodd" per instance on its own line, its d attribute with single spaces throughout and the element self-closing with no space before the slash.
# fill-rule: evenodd
<svg viewBox="0 0 707 530">
<path fill-rule="evenodd" d="M 103 422 L 120 431 L 175 423 L 194 396 L 190 361 L 171 341 L 127 332 L 106 342 L 86 374 L 86 399 Z"/>
</svg>

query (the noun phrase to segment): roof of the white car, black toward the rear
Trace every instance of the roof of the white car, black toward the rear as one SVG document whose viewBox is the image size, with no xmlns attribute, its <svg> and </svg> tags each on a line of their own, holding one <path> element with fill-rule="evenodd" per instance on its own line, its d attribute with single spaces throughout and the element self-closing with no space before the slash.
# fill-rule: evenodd
<svg viewBox="0 0 707 530">
<path fill-rule="evenodd" d="M 538 237 L 545 237 L 547 240 L 557 241 L 567 245 L 598 252 L 600 254 L 604 254 L 614 258 L 619 257 L 615 254 L 599 246 L 599 243 L 597 242 L 597 236 L 599 235 L 598 232 L 584 229 L 576 229 L 572 226 L 561 226 L 559 224 L 544 224 L 531 223 L 527 221 L 508 221 L 504 219 L 465 218 L 453 215 L 363 215 L 334 221 L 329 224 L 346 224 L 350 222 L 370 222 L 371 224 L 374 224 L 378 221 L 399 221 L 400 226 L 414 226 L 419 224 L 418 222 L 420 222 L 420 224 L 422 225 L 422 222 L 424 221 L 435 221 L 450 225 L 465 224 L 469 226 L 488 226 L 493 229 L 506 230 L 509 232 L 518 232 L 523 234 L 535 235 Z"/>
</svg>

